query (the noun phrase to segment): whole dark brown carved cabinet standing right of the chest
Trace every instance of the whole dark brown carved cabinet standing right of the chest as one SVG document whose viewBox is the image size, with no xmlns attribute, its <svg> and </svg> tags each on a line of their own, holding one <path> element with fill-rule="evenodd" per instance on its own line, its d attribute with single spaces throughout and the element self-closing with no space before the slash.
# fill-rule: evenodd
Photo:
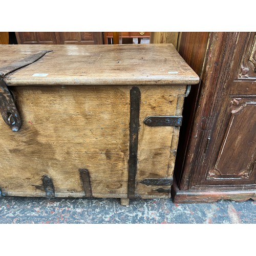
<svg viewBox="0 0 256 256">
<path fill-rule="evenodd" d="M 255 46 L 255 32 L 182 33 L 179 52 L 201 82 L 184 104 L 175 202 L 256 198 Z"/>
</svg>

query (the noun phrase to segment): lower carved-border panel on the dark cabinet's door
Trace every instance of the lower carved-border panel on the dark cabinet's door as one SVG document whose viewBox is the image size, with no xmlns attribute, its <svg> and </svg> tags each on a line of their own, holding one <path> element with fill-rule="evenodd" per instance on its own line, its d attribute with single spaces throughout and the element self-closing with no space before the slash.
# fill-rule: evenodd
<svg viewBox="0 0 256 256">
<path fill-rule="evenodd" d="M 232 98 L 231 113 L 225 135 L 218 150 L 214 168 L 207 180 L 255 180 L 256 97 Z M 254 175 L 253 175 L 254 173 Z"/>
</svg>

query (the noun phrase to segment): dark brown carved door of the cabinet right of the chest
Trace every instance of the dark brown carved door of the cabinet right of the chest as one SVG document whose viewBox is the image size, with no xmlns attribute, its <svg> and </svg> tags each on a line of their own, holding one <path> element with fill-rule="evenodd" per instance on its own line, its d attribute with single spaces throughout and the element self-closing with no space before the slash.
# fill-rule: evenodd
<svg viewBox="0 0 256 256">
<path fill-rule="evenodd" d="M 220 63 L 218 87 L 208 117 L 203 117 L 206 124 L 192 180 L 195 188 L 255 184 L 256 34 L 233 33 L 228 41 L 229 54 Z"/>
</svg>

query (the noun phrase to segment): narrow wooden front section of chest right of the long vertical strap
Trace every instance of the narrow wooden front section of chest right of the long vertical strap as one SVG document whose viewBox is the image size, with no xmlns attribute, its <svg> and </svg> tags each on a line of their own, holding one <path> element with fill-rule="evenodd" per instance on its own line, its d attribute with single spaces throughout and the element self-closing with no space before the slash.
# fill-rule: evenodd
<svg viewBox="0 0 256 256">
<path fill-rule="evenodd" d="M 173 177 L 178 145 L 179 127 L 148 126 L 143 121 L 147 116 L 172 116 L 182 111 L 183 100 L 177 104 L 179 95 L 184 99 L 186 86 L 141 87 L 140 129 L 138 144 L 138 167 L 136 194 L 159 195 L 156 186 L 139 183 L 147 178 Z M 153 187 L 153 188 L 151 188 Z"/>
</svg>

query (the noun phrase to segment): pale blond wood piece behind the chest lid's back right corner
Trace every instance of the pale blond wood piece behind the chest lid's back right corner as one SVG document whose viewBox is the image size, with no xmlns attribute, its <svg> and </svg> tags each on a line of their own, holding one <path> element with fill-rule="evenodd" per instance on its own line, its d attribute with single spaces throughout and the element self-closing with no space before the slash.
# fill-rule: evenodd
<svg viewBox="0 0 256 256">
<path fill-rule="evenodd" d="M 150 44 L 173 44 L 177 48 L 179 32 L 151 32 Z"/>
</svg>

